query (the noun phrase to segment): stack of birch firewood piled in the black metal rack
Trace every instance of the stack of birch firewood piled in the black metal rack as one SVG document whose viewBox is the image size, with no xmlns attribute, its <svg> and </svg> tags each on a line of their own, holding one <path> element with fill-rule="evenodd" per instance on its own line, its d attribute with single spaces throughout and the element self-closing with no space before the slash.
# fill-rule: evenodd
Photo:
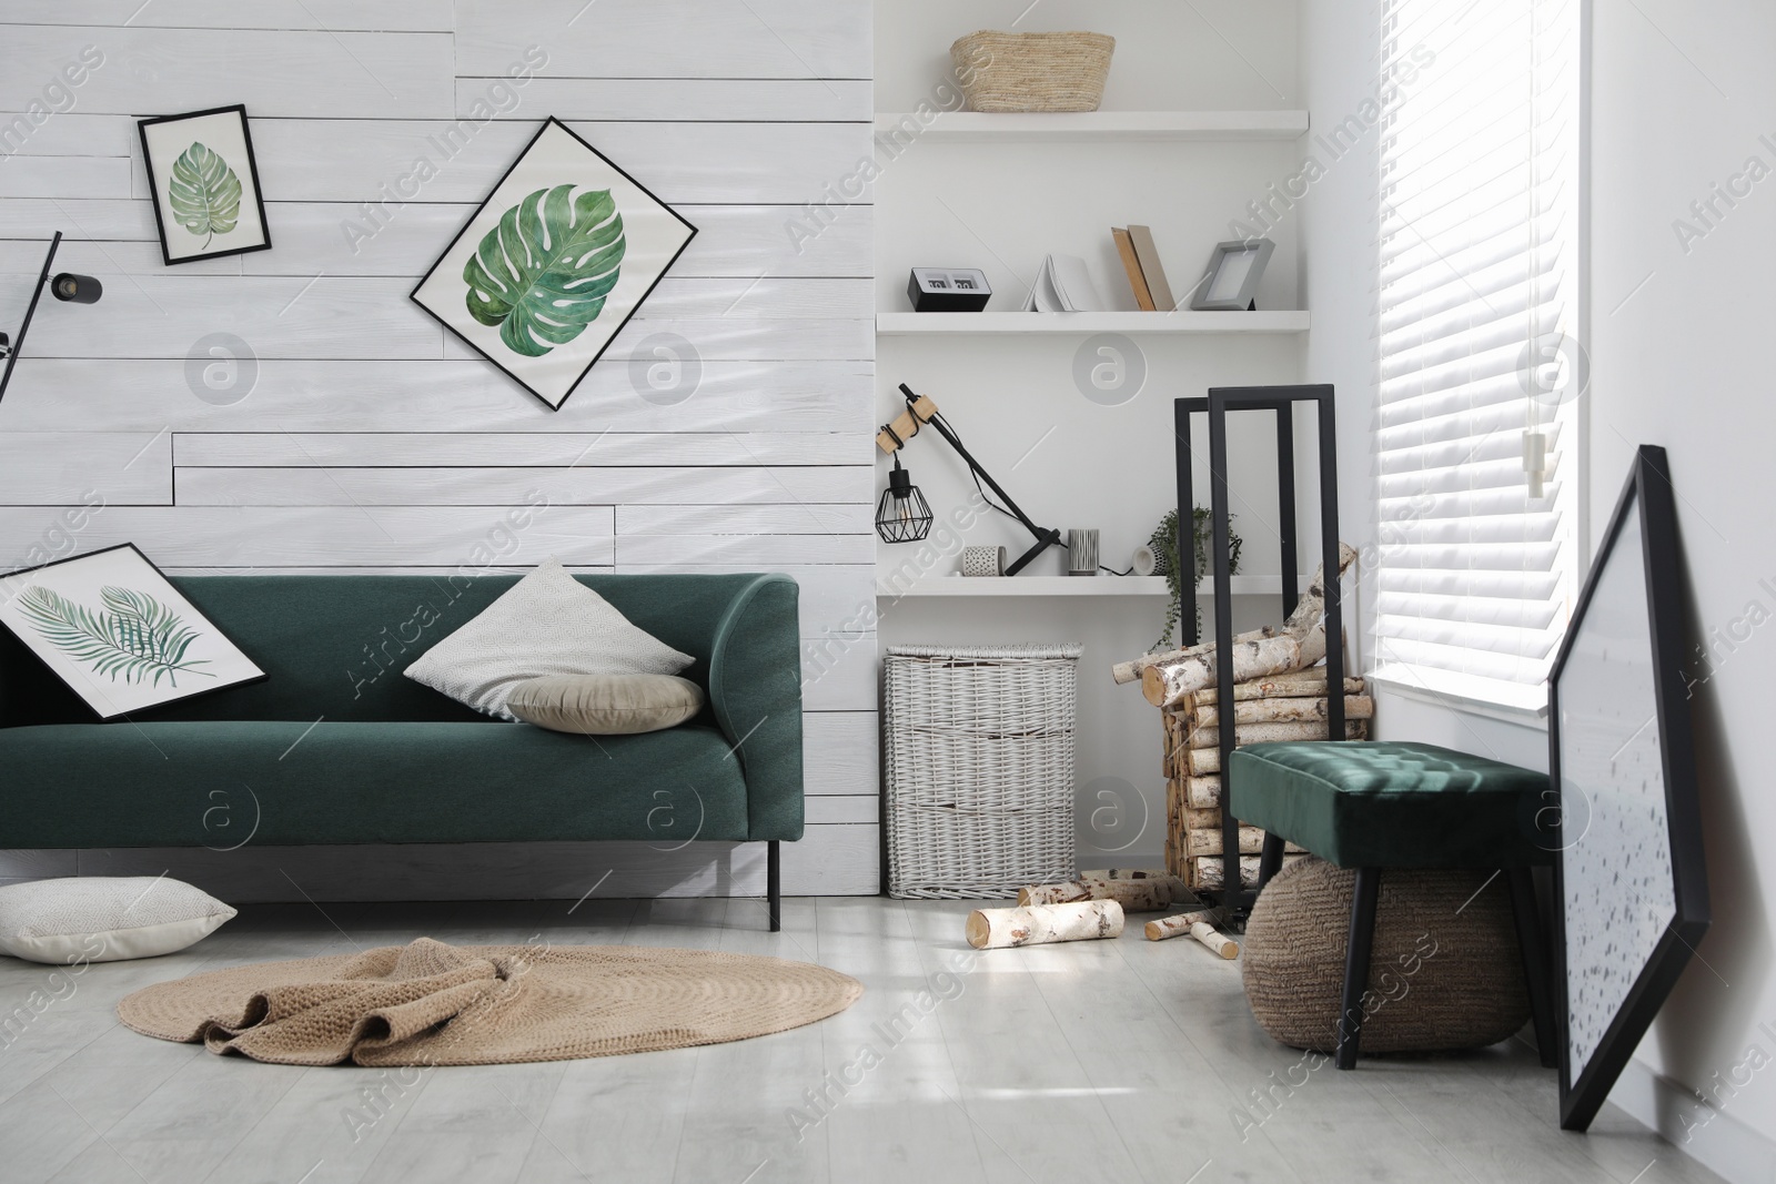
<svg viewBox="0 0 1776 1184">
<path fill-rule="evenodd" d="M 1357 554 L 1339 547 L 1337 577 Z M 1238 634 L 1233 641 L 1234 747 L 1270 740 L 1327 738 L 1325 570 L 1282 625 Z M 1220 692 L 1215 643 L 1149 653 L 1114 667 L 1117 682 L 1140 680 L 1165 728 L 1167 831 L 1165 868 L 1192 889 L 1220 889 L 1222 850 Z M 1369 738 L 1375 699 L 1360 678 L 1346 678 L 1344 738 Z M 1240 882 L 1257 882 L 1265 833 L 1240 827 Z M 1291 849 L 1295 850 L 1295 849 Z M 1295 852 L 1298 854 L 1298 852 Z"/>
</svg>

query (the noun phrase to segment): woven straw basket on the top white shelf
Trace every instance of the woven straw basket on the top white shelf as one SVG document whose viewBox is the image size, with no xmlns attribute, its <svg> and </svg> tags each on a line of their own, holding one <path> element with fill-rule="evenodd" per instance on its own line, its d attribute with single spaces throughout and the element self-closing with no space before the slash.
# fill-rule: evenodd
<svg viewBox="0 0 1776 1184">
<path fill-rule="evenodd" d="M 1115 37 L 1007 34 L 982 28 L 950 46 L 950 64 L 977 112 L 1094 112 L 1105 98 Z"/>
</svg>

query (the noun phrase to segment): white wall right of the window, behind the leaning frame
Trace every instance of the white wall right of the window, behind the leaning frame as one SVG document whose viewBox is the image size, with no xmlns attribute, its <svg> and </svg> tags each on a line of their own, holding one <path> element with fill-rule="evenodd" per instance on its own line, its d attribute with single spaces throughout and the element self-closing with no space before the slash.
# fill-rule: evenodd
<svg viewBox="0 0 1776 1184">
<path fill-rule="evenodd" d="M 1664 446 L 1691 643 L 1714 646 L 1693 669 L 1705 678 L 1693 719 L 1714 928 L 1636 1054 L 1668 1088 L 1634 1111 L 1728 1179 L 1762 1182 L 1776 1163 L 1776 1065 L 1735 1067 L 1751 1046 L 1776 1060 L 1776 863 L 1765 843 L 1776 834 L 1776 691 L 1764 676 L 1776 639 L 1753 625 L 1776 612 L 1776 531 L 1760 488 L 1776 430 L 1776 293 L 1762 266 L 1776 252 L 1776 183 L 1735 208 L 1717 202 L 1712 229 L 1689 204 L 1751 156 L 1765 174 L 1776 169 L 1776 147 L 1760 140 L 1776 138 L 1776 11 L 1653 0 L 1639 11 L 1597 5 L 1593 21 L 1593 524 L 1606 525 L 1634 446 Z M 1677 220 L 1703 238 L 1685 236 L 1685 250 Z M 1721 1081 L 1730 1088 L 1717 1093 Z M 1717 1117 L 1680 1090 L 1709 1093 Z M 1744 1141 L 1751 1133 L 1760 1145 Z"/>
</svg>

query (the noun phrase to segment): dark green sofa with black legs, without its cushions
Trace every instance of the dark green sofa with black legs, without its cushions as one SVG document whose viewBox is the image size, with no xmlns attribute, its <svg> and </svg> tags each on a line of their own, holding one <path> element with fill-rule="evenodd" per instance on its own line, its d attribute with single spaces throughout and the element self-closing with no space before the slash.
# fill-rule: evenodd
<svg viewBox="0 0 1776 1184">
<path fill-rule="evenodd" d="M 108 724 L 0 630 L 0 849 L 767 841 L 778 928 L 778 843 L 803 831 L 796 582 L 577 579 L 696 659 L 696 719 L 561 735 L 401 675 L 517 577 L 174 579 L 268 678 Z"/>
</svg>

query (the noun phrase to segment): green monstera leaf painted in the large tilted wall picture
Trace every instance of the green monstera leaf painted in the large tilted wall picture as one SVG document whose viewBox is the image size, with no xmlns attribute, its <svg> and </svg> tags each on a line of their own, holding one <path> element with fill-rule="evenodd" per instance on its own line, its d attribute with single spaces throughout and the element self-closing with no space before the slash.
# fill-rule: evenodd
<svg viewBox="0 0 1776 1184">
<path fill-rule="evenodd" d="M 623 261 L 623 215 L 611 190 L 536 190 L 499 218 L 462 268 L 469 316 L 499 327 L 513 353 L 542 357 L 604 311 Z"/>
</svg>

